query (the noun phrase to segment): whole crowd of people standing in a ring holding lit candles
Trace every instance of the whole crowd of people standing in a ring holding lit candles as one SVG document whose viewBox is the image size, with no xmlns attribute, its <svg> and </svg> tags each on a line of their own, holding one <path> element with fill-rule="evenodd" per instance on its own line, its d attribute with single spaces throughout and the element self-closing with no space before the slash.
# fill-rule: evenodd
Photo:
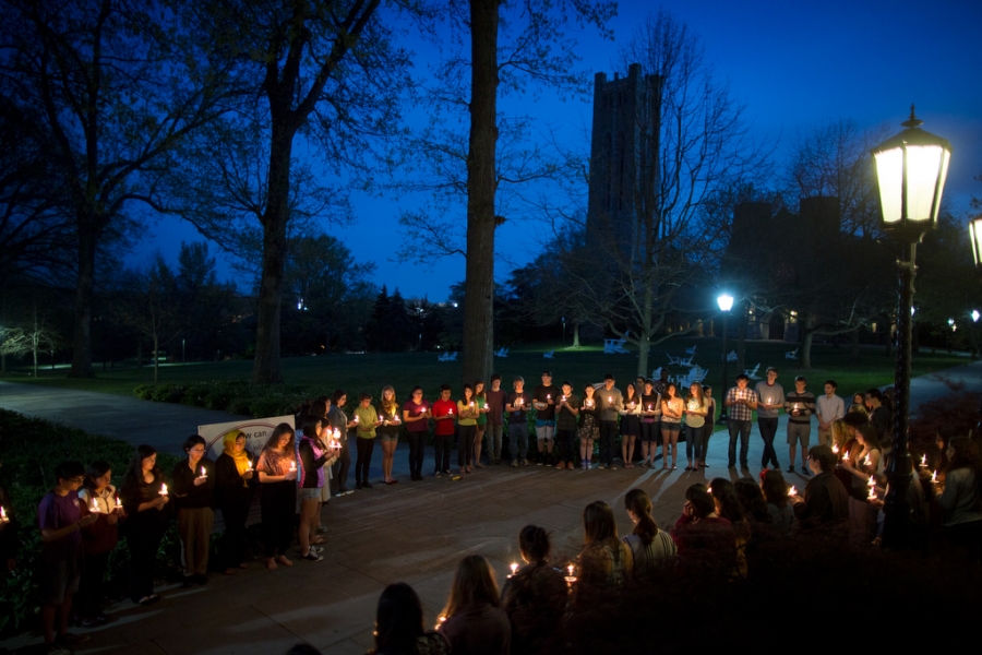
<svg viewBox="0 0 982 655">
<path fill-rule="evenodd" d="M 733 409 L 753 406 L 759 412 L 761 405 L 776 405 L 777 396 L 766 395 L 776 393 L 776 371 L 774 373 L 768 374 L 768 386 L 763 391 L 754 391 L 753 395 L 745 393 L 746 380 L 743 377 L 738 378 L 736 386 L 727 393 L 724 402 L 731 409 L 731 465 L 735 464 L 735 440 L 743 427 L 740 421 L 744 420 Z M 696 388 L 695 384 L 690 389 L 690 396 L 681 401 L 683 406 L 680 410 L 678 404 L 673 407 L 672 403 L 676 397 L 670 383 L 662 395 L 655 382 L 644 381 L 646 393 L 635 398 L 633 385 L 628 384 L 627 392 L 621 394 L 613 386 L 612 376 L 607 376 L 604 383 L 597 388 L 587 385 L 583 397 L 572 393 L 572 385 L 568 383 L 561 385 L 556 396 L 550 390 L 549 382 L 551 376 L 543 374 L 542 386 L 546 392 L 540 394 L 537 389 L 531 396 L 526 397 L 524 381 L 517 379 L 514 393 L 502 401 L 503 412 L 508 413 L 510 428 L 511 417 L 522 413 L 522 428 L 516 422 L 515 430 L 510 429 L 514 443 L 511 449 L 515 456 L 513 466 L 527 464 L 522 451 L 522 437 L 523 433 L 526 438 L 528 436 L 524 412 L 529 406 L 537 410 L 536 434 L 541 434 L 537 439 L 540 463 L 554 463 L 556 468 L 560 468 L 559 464 L 570 467 L 575 461 L 575 454 L 570 448 L 573 436 L 568 432 L 577 432 L 575 436 L 580 441 L 580 460 L 587 463 L 585 466 L 580 465 L 588 468 L 594 454 L 592 437 L 601 430 L 604 439 L 620 433 L 622 449 L 630 449 L 631 431 L 634 428 L 630 425 L 631 421 L 627 421 L 627 428 L 622 427 L 624 418 L 634 416 L 638 418 L 640 426 L 652 425 L 645 424 L 644 420 L 646 414 L 655 412 L 656 404 L 660 408 L 659 420 L 655 425 L 662 437 L 662 457 L 672 457 L 674 466 L 676 444 L 672 438 L 679 430 L 672 427 L 676 425 L 672 419 L 678 415 L 680 421 L 686 421 L 686 428 L 697 428 L 700 426 L 690 426 L 687 421 L 697 424 L 698 418 L 703 418 L 705 426 L 706 417 L 715 415 L 706 396 L 703 394 L 699 397 L 702 388 Z M 795 384 L 803 386 L 803 382 L 798 380 Z M 833 392 L 835 390 L 835 384 L 827 382 L 827 396 L 834 395 L 828 393 L 829 385 Z M 492 379 L 492 391 L 499 386 L 500 379 Z M 416 389 L 412 398 L 402 405 L 402 416 L 395 392 L 392 388 L 385 388 L 378 405 L 372 404 L 370 395 L 362 394 L 359 406 L 350 418 L 344 412 L 346 394 L 336 392 L 330 400 L 316 401 L 304 407 L 298 418 L 299 430 L 286 424 L 277 426 L 258 454 L 247 451 L 244 434 L 230 432 L 225 436 L 223 453 L 212 461 L 206 456 L 205 440 L 196 434 L 189 437 L 183 443 L 187 457 L 178 463 L 170 477 L 157 466 L 156 451 L 148 445 L 140 445 L 122 475 L 119 490 L 110 484 L 112 471 L 105 462 L 92 462 L 87 467 L 77 462 L 59 465 L 55 471 L 57 484 L 38 507 L 38 526 L 43 540 L 41 591 L 45 597 L 41 622 L 49 651 L 65 652 L 68 647 L 88 639 L 86 634 L 69 631 L 72 617 L 84 627 L 111 620 L 101 611 L 103 580 L 109 555 L 120 539 L 121 527 L 124 527 L 122 536 L 130 551 L 131 599 L 135 604 L 151 605 L 159 599 L 154 590 L 157 551 L 164 533 L 175 520 L 181 539 L 182 586 L 206 584 L 208 581 L 208 545 L 216 509 L 221 511 L 225 533 L 218 549 L 223 561 L 217 562 L 217 567 L 212 562 L 212 568 L 235 575 L 248 565 L 246 521 L 256 489 L 260 490 L 265 565 L 271 570 L 278 565 L 294 565 L 294 561 L 287 556 L 295 535 L 300 544 L 299 559 L 321 561 L 320 544 L 324 537 L 323 526 L 320 525 L 320 508 L 332 496 L 332 481 L 335 483 L 335 496 L 348 493 L 343 467 L 347 443 L 352 438 L 357 440 L 355 450 L 358 453 L 356 485 L 362 489 L 371 488 L 368 462 L 376 437 L 381 437 L 379 440 L 385 455 L 385 481 L 394 484 L 392 456 L 398 443 L 398 430 L 404 422 L 409 424 L 407 431 L 411 424 L 424 426 L 424 429 L 417 427 L 416 439 L 409 441 L 410 463 L 418 462 L 418 465 L 411 467 L 415 474 L 412 479 L 421 476 L 422 453 L 431 419 L 435 424 L 435 437 L 444 438 L 442 446 L 436 441 L 436 475 L 450 474 L 441 457 L 448 457 L 454 436 L 457 437 L 460 453 L 460 475 L 472 472 L 474 467 L 481 467 L 478 431 L 469 428 L 476 428 L 478 418 L 483 414 L 487 421 L 483 424 L 484 431 L 493 434 L 494 424 L 491 419 L 494 412 L 488 409 L 487 395 L 481 403 L 479 396 L 472 393 L 475 388 L 479 392 L 483 391 L 480 383 L 469 389 L 471 393 L 465 386 L 462 398 L 456 403 L 450 400 L 451 390 L 445 388 L 441 390 L 441 398 L 432 404 L 422 398 L 421 390 Z M 655 401 L 645 404 L 645 396 L 652 395 L 656 396 Z M 790 405 L 787 396 L 781 402 L 792 417 L 810 417 L 812 412 L 818 414 L 821 438 L 821 405 L 817 402 L 806 403 L 800 395 L 790 397 Z M 795 406 L 795 403 L 801 405 Z M 543 418 L 549 414 L 541 405 L 553 407 L 552 419 Z M 639 405 L 642 409 L 638 409 Z M 421 630 L 422 627 L 421 619 L 406 622 L 407 616 L 416 616 L 416 610 L 411 607 L 406 609 L 406 606 L 418 606 L 418 599 L 405 585 L 394 585 L 386 590 L 380 602 L 378 652 L 427 653 L 451 648 L 452 652 L 460 653 L 499 653 L 507 652 L 510 647 L 514 652 L 535 652 L 529 644 L 534 644 L 537 630 L 543 623 L 537 619 L 526 624 L 520 618 L 520 611 L 518 615 L 515 612 L 516 608 L 538 603 L 535 598 L 539 592 L 546 596 L 561 596 L 562 607 L 565 607 L 565 603 L 571 602 L 576 594 L 586 594 L 585 590 L 616 586 L 628 580 L 651 575 L 664 565 L 678 567 L 683 571 L 696 570 L 705 565 L 707 555 L 710 556 L 708 560 L 722 574 L 738 579 L 746 575 L 749 549 L 766 540 L 787 538 L 793 531 L 825 531 L 845 525 L 848 526 L 849 538 L 853 544 L 875 544 L 882 526 L 882 498 L 886 492 L 883 472 L 890 455 L 882 445 L 876 426 L 877 414 L 883 415 L 877 413 L 879 406 L 877 404 L 870 412 L 866 404 L 855 403 L 841 417 L 827 413 L 824 415 L 829 419 L 825 426 L 826 442 L 806 450 L 803 463 L 807 468 L 809 480 L 803 493 L 799 495 L 793 487 L 789 488 L 779 467 L 766 466 L 767 457 L 774 456 L 774 453 L 765 448 L 764 469 L 758 479 L 743 477 L 731 481 L 715 478 L 709 484 L 696 483 L 690 486 L 685 492 L 682 516 L 670 533 L 658 528 L 651 517 L 650 500 L 640 489 L 633 489 L 625 497 L 625 509 L 635 523 L 635 529 L 623 540 L 618 538 L 610 507 L 599 501 L 591 503 L 584 512 L 586 546 L 565 573 L 551 563 L 548 535 L 535 526 L 523 531 L 519 538 L 526 565 L 508 579 L 502 594 L 498 592 L 487 560 L 480 556 L 465 559 L 457 571 L 451 598 L 441 615 L 445 620 L 441 622 L 439 634 L 417 633 L 416 628 Z M 565 414 L 575 416 L 577 420 L 564 422 Z M 591 416 L 595 420 L 588 418 Z M 611 422 L 608 418 L 610 416 L 613 417 L 613 432 L 611 426 L 602 425 L 604 421 Z M 460 425 L 460 421 L 468 420 L 474 420 L 474 426 Z M 548 425 L 550 420 L 553 426 Z M 440 428 L 441 422 L 451 426 L 448 433 L 441 434 L 444 431 Z M 539 425 L 540 422 L 547 425 Z M 666 425 L 669 427 L 666 428 Z M 556 428 L 558 452 L 553 452 L 553 432 L 546 429 L 550 427 Z M 789 427 L 789 445 L 790 430 Z M 693 449 L 695 443 L 705 443 L 704 439 L 708 438 L 709 430 L 704 432 L 704 437 L 693 439 Z M 686 436 L 694 433 L 695 430 L 687 430 Z M 650 437 L 651 429 L 648 429 L 647 434 Z M 800 432 L 795 439 L 803 449 L 807 446 L 806 442 L 802 442 Z M 584 444 L 585 440 L 587 444 Z M 647 441 L 650 443 L 652 439 Z M 468 446 L 468 443 L 471 445 Z M 613 439 L 610 439 L 607 449 L 602 443 L 601 440 L 601 465 L 613 467 L 610 448 Z M 765 446 L 766 444 L 765 438 Z M 908 490 L 911 532 L 918 543 L 939 537 L 957 545 L 968 557 L 978 560 L 982 534 L 982 496 L 979 488 L 982 461 L 979 450 L 971 440 L 963 437 L 948 440 L 939 436 L 936 445 L 936 453 L 931 453 L 930 466 L 919 465 L 920 462 L 926 462 L 926 452 L 917 453 L 911 466 Z M 648 466 L 654 466 L 655 450 L 654 445 L 643 450 Z M 494 454 L 492 438 L 489 449 L 491 463 L 496 461 Z M 790 454 L 793 469 L 794 451 Z M 628 455 L 625 451 L 623 455 L 625 467 L 631 466 L 633 454 Z M 702 468 L 705 461 L 700 457 L 704 456 L 704 451 L 694 449 L 690 468 Z M 741 449 L 741 464 L 745 465 L 745 460 L 746 450 Z M 668 466 L 667 461 L 663 466 Z M 298 501 L 299 521 L 295 511 Z M 11 544 L 16 543 L 13 535 L 17 526 L 2 490 L 0 507 L 4 508 L 4 513 L 0 516 L 0 546 L 4 549 L 8 567 L 12 567 L 14 551 Z M 571 588 L 579 591 L 570 594 Z M 548 590 L 552 591 L 546 593 Z M 559 594 L 560 591 L 562 594 Z M 386 614 L 383 606 L 388 605 L 398 609 Z M 564 611 L 559 605 L 553 609 L 560 617 Z M 539 616 L 539 610 L 536 616 Z M 392 623 L 393 621 L 398 624 Z M 489 631 L 489 634 L 481 630 Z M 498 636 L 492 639 L 490 632 Z M 407 650 L 405 644 L 408 642 L 405 640 L 410 636 L 419 644 L 422 644 L 419 640 L 429 640 L 430 645 L 427 647 L 430 651 L 422 646 L 417 651 Z"/>
</svg>

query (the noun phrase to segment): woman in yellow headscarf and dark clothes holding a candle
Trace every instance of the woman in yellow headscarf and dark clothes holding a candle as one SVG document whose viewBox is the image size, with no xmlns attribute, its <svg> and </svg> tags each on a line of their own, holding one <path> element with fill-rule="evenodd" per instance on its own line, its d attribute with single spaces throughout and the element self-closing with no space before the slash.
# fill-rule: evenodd
<svg viewBox="0 0 982 655">
<path fill-rule="evenodd" d="M 238 569 L 246 568 L 246 521 L 252 504 L 255 473 L 241 430 L 226 432 L 221 445 L 221 454 L 215 461 L 215 502 L 225 523 L 219 551 L 226 575 L 235 575 Z"/>
</svg>

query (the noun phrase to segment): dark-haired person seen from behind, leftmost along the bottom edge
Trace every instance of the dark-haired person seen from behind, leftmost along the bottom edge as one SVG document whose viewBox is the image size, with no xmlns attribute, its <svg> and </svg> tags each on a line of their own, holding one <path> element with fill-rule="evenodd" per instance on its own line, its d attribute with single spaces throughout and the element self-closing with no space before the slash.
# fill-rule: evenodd
<svg viewBox="0 0 982 655">
<path fill-rule="evenodd" d="M 379 596 L 374 636 L 369 655 L 450 655 L 446 639 L 423 626 L 422 604 L 405 582 L 388 585 Z"/>
</svg>

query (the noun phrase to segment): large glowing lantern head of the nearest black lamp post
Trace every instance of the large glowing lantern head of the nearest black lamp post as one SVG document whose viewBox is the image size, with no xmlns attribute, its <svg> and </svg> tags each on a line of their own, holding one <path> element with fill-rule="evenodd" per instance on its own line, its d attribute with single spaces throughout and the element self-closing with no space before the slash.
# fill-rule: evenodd
<svg viewBox="0 0 982 655">
<path fill-rule="evenodd" d="M 922 130 L 923 122 L 911 105 L 910 118 L 900 123 L 907 129 L 872 151 L 883 212 L 879 225 L 912 241 L 937 225 L 951 159 L 948 140 Z"/>
</svg>

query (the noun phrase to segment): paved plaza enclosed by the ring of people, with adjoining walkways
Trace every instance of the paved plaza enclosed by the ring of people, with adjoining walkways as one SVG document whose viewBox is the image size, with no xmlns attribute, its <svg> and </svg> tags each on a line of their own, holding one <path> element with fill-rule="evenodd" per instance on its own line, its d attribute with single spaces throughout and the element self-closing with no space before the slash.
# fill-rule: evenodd
<svg viewBox="0 0 982 655">
<path fill-rule="evenodd" d="M 982 364 L 958 367 L 945 376 L 965 381 L 970 391 L 982 391 Z M 930 379 L 918 379 L 912 385 L 914 404 L 946 392 L 943 384 Z M 8 383 L 0 383 L 0 407 L 132 443 L 152 443 L 176 454 L 180 441 L 195 426 L 236 418 L 180 405 Z M 778 443 L 783 443 L 785 420 L 782 416 Z M 812 441 L 817 442 L 814 425 Z M 295 560 L 294 567 L 276 571 L 254 562 L 236 576 L 213 573 L 205 587 L 158 588 L 163 599 L 149 608 L 129 602 L 108 608 L 118 620 L 88 631 L 92 641 L 76 653 L 275 654 L 298 642 L 308 642 L 323 653 L 364 653 L 372 644 L 375 605 L 385 585 L 411 584 L 432 624 L 446 599 L 454 568 L 465 555 L 488 557 L 501 581 L 508 564 L 518 559 L 518 531 L 535 523 L 552 531 L 558 557 L 573 557 L 583 539 L 583 508 L 594 500 L 609 502 L 620 533 L 630 532 L 623 496 L 635 486 L 651 497 L 659 526 L 670 528 L 681 513 L 690 484 L 741 475 L 727 468 L 726 451 L 724 432 L 716 432 L 705 472 L 682 471 L 683 450 L 681 466 L 672 472 L 625 469 L 620 461 L 618 471 L 560 472 L 532 464 L 478 469 L 459 481 L 430 474 L 423 481 L 410 483 L 407 448 L 400 444 L 394 473 L 399 484 L 392 486 L 381 483 L 381 453 L 375 452 L 371 479 L 380 481 L 374 489 L 334 499 L 324 508 L 323 520 L 330 527 L 324 561 Z M 778 454 L 787 466 L 786 448 L 778 448 Z M 423 471 L 432 472 L 432 450 L 428 455 Z M 752 475 L 759 473 L 755 465 L 759 456 L 755 427 Z M 801 474 L 786 476 L 799 489 L 806 483 Z M 39 642 L 38 636 L 22 635 L 0 646 L 15 650 Z"/>
</svg>

